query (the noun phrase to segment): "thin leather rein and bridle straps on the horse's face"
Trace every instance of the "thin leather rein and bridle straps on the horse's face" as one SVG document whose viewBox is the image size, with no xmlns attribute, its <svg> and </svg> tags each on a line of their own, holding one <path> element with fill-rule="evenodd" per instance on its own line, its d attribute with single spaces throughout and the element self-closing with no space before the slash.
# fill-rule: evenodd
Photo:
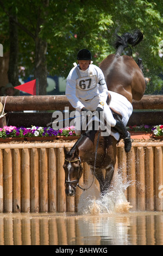
<svg viewBox="0 0 163 256">
<path fill-rule="evenodd" d="M 72 186 L 74 189 L 76 189 L 76 187 L 78 186 L 81 190 L 85 191 L 85 190 L 89 190 L 89 188 L 93 185 L 93 181 L 94 181 L 94 179 L 95 179 L 95 168 L 96 168 L 96 159 L 97 159 L 97 149 L 98 149 L 98 143 L 99 143 L 99 135 L 100 135 L 100 130 L 99 130 L 99 132 L 98 132 L 98 138 L 97 138 L 97 144 L 96 144 L 95 163 L 94 163 L 94 167 L 93 167 L 93 180 L 92 180 L 92 183 L 91 183 L 91 185 L 90 185 L 89 187 L 83 188 L 83 187 L 81 187 L 81 186 L 79 185 L 79 179 L 77 179 L 77 180 L 71 180 L 71 181 L 67 181 L 67 180 L 66 180 L 65 183 L 68 184 L 68 185 L 70 185 L 70 186 Z M 79 159 L 73 160 L 73 161 L 70 161 L 70 160 L 67 160 L 67 159 L 65 159 L 65 160 L 66 160 L 67 162 L 69 162 L 69 163 L 80 161 L 80 164 L 82 164 L 82 162 L 81 162 L 81 160 L 80 160 L 80 157 L 79 157 Z M 77 184 L 76 187 L 72 185 L 74 182 L 78 182 L 78 184 Z"/>
</svg>

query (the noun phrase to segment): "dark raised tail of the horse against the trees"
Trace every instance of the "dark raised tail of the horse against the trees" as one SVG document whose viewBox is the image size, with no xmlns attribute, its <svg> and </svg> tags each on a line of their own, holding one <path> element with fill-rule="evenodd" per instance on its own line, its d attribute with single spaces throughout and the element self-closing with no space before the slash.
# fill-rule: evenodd
<svg viewBox="0 0 163 256">
<path fill-rule="evenodd" d="M 114 43 L 115 48 L 117 49 L 116 54 L 122 54 L 124 48 L 135 46 L 139 44 L 140 41 L 143 39 L 143 33 L 140 30 L 136 30 L 133 34 L 124 33 L 123 35 L 118 35 L 116 33 L 116 41 Z"/>
</svg>

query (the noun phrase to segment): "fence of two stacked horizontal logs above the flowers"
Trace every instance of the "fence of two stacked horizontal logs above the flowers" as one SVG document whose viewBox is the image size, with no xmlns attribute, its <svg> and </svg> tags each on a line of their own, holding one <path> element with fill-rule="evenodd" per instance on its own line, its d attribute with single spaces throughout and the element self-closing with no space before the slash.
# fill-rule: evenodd
<svg viewBox="0 0 163 256">
<path fill-rule="evenodd" d="M 5 105 L 7 124 L 17 127 L 48 126 L 54 120 L 53 111 L 74 110 L 65 95 L 2 96 L 0 102 Z M 163 95 L 144 95 L 133 101 L 133 109 L 127 126 L 163 123 Z"/>
</svg>

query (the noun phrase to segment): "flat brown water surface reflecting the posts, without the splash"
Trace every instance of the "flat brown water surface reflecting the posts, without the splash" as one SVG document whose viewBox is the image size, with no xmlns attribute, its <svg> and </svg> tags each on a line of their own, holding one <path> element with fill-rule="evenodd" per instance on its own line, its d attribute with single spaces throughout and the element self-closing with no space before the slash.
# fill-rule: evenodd
<svg viewBox="0 0 163 256">
<path fill-rule="evenodd" d="M 0 230 L 0 245 L 163 245 L 163 214 L 0 214 Z"/>
</svg>

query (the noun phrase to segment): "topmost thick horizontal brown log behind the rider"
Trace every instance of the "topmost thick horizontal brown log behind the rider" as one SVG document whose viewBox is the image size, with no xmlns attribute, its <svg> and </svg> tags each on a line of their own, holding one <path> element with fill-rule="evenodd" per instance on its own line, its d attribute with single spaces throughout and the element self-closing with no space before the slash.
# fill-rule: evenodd
<svg viewBox="0 0 163 256">
<path fill-rule="evenodd" d="M 10 111 L 46 111 L 74 110 L 65 95 L 40 96 L 1 96 L 0 102 L 5 103 L 5 112 Z M 134 109 L 163 109 L 163 95 L 144 95 L 140 101 L 133 101 Z"/>
</svg>

